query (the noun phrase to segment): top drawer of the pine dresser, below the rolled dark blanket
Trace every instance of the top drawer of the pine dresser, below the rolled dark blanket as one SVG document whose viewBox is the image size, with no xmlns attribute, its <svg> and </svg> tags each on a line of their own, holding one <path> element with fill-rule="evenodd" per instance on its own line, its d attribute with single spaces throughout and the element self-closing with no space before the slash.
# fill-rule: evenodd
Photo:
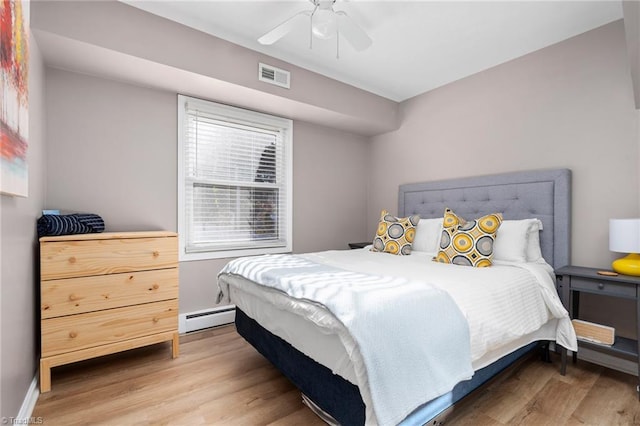
<svg viewBox="0 0 640 426">
<path fill-rule="evenodd" d="M 49 241 L 40 246 L 43 281 L 177 266 L 177 237 Z"/>
</svg>

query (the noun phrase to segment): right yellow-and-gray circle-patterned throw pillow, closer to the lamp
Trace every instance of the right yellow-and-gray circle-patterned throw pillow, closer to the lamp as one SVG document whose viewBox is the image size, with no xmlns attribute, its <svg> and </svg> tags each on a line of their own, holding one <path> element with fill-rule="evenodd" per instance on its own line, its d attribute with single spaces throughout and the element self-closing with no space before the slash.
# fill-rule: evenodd
<svg viewBox="0 0 640 426">
<path fill-rule="evenodd" d="M 501 223 L 501 213 L 467 222 L 451 209 L 445 209 L 440 250 L 433 260 L 476 268 L 491 266 L 493 242 Z"/>
</svg>

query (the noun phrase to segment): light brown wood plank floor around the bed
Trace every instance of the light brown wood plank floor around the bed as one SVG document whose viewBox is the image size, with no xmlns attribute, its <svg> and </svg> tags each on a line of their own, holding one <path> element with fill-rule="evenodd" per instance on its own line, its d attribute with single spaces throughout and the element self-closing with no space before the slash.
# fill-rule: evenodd
<svg viewBox="0 0 640 426">
<path fill-rule="evenodd" d="M 54 368 L 33 412 L 45 425 L 323 425 L 233 326 Z M 640 425 L 635 377 L 532 357 L 477 391 L 450 425 Z"/>
</svg>

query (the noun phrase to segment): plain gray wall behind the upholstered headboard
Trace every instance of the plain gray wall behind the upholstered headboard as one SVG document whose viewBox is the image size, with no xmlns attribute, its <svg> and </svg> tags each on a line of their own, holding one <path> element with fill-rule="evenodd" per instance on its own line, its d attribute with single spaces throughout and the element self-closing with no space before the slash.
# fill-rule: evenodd
<svg viewBox="0 0 640 426">
<path fill-rule="evenodd" d="M 372 138 L 368 226 L 402 183 L 567 167 L 572 262 L 610 267 L 609 218 L 639 214 L 633 95 L 617 21 L 405 101 Z"/>
</svg>

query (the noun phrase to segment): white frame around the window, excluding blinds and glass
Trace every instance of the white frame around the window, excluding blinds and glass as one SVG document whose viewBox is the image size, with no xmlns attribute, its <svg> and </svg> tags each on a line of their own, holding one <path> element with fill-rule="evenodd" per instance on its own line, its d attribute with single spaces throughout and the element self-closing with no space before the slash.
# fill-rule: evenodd
<svg viewBox="0 0 640 426">
<path fill-rule="evenodd" d="M 289 253 L 293 247 L 293 121 L 290 119 L 273 116 L 257 111 L 251 111 L 213 101 L 206 101 L 178 94 L 178 241 L 179 260 L 193 261 L 206 259 L 221 259 L 229 257 L 253 256 L 260 254 Z M 206 111 L 207 114 L 215 115 L 216 119 L 239 124 L 241 126 L 254 127 L 260 129 L 277 130 L 282 134 L 284 150 L 283 171 L 285 174 L 285 244 L 278 247 L 260 246 L 257 241 L 255 247 L 238 249 L 215 249 L 187 252 L 189 227 L 193 223 L 189 217 L 186 206 L 187 194 L 187 167 L 185 164 L 187 149 L 187 104 L 196 106 L 197 109 Z M 190 209 L 193 212 L 193 208 Z M 263 243 L 264 245 L 264 243 Z"/>
</svg>

